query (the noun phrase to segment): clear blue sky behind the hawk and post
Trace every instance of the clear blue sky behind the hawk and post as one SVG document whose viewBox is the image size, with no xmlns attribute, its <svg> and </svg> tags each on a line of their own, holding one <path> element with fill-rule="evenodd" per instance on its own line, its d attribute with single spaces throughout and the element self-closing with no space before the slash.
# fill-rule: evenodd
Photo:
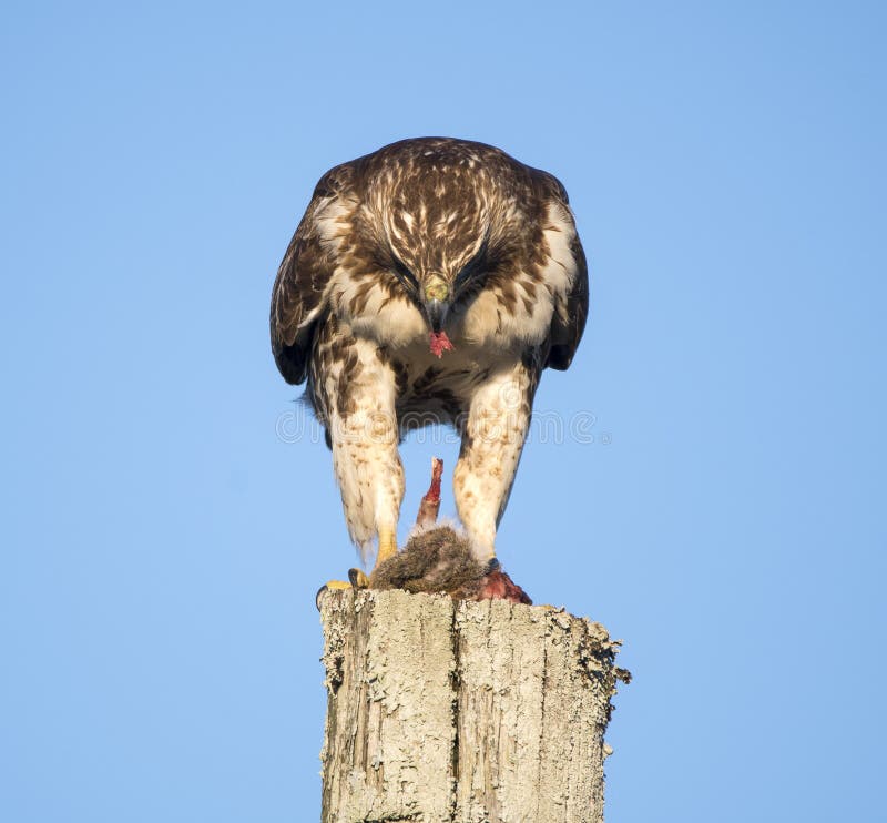
<svg viewBox="0 0 887 823">
<path fill-rule="evenodd" d="M 317 817 L 355 553 L 271 284 L 326 169 L 424 134 L 555 173 L 589 254 L 537 408 L 592 441 L 530 444 L 498 546 L 625 641 L 608 819 L 883 813 L 881 4 L 2 18 L 3 820 Z"/>
</svg>

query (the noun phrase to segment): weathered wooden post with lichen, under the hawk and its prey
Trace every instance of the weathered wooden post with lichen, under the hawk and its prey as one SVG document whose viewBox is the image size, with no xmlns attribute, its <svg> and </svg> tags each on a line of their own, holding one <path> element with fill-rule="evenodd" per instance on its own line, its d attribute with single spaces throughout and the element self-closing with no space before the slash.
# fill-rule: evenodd
<svg viewBox="0 0 887 823">
<path fill-rule="evenodd" d="M 618 641 L 550 607 L 328 591 L 324 823 L 603 820 Z"/>
</svg>

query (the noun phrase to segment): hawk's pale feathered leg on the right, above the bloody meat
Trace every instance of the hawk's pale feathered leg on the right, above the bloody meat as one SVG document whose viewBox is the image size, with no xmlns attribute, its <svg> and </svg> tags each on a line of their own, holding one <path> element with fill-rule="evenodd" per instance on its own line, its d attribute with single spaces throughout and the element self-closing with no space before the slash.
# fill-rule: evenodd
<svg viewBox="0 0 887 823">
<path fill-rule="evenodd" d="M 496 555 L 496 527 L 518 470 L 534 388 L 536 378 L 523 364 L 495 374 L 475 393 L 461 421 L 452 487 L 459 519 L 481 562 Z"/>
</svg>

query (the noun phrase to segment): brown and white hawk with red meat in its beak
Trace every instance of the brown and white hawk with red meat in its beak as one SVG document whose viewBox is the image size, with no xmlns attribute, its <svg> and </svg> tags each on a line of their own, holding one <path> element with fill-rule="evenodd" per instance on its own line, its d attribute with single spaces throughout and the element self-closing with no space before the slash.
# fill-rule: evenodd
<svg viewBox="0 0 887 823">
<path fill-rule="evenodd" d="M 542 370 L 567 369 L 588 314 L 567 192 L 482 143 L 404 140 L 328 171 L 274 283 L 271 338 L 325 428 L 351 539 L 397 552 L 398 444 L 449 424 L 459 519 L 481 563 Z"/>
</svg>

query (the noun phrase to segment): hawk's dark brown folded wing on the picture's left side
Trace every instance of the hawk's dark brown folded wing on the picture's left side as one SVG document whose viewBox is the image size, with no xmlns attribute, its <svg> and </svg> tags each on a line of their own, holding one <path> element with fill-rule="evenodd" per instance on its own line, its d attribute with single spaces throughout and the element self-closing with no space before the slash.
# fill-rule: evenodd
<svg viewBox="0 0 887 823">
<path fill-rule="evenodd" d="M 305 380 L 314 332 L 326 308 L 336 252 L 350 213 L 347 166 L 327 172 L 286 250 L 271 298 L 271 346 L 287 383 Z"/>
</svg>

